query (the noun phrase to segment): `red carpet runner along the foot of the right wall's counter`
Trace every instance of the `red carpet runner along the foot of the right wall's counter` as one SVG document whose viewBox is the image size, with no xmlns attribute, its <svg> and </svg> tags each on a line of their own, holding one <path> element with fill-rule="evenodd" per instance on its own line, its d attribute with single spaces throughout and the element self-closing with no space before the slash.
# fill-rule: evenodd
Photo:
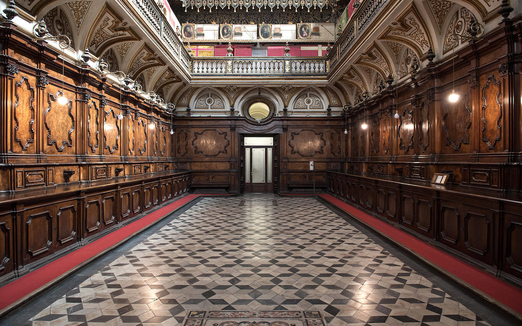
<svg viewBox="0 0 522 326">
<path fill-rule="evenodd" d="M 398 228 L 381 221 L 374 216 L 367 214 L 350 204 L 347 204 L 334 196 L 321 194 L 319 195 L 334 206 L 351 214 L 356 219 L 370 225 L 375 230 L 384 233 L 396 242 L 406 246 L 410 250 L 417 252 L 420 256 L 431 261 L 438 267 L 457 276 L 469 285 L 479 289 L 491 298 L 500 301 L 505 306 L 522 313 L 522 290 L 515 286 L 498 279 L 497 277 L 485 273 L 470 264 L 449 255 L 440 249 L 437 249 L 422 240 L 399 230 Z"/>
</svg>

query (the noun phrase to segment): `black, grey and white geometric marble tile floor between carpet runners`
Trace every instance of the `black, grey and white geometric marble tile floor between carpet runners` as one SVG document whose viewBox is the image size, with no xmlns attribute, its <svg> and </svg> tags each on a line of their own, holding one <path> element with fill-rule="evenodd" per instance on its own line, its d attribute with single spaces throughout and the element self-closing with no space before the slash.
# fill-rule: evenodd
<svg viewBox="0 0 522 326">
<path fill-rule="evenodd" d="M 310 197 L 205 198 L 24 325 L 322 311 L 330 326 L 489 325 Z"/>
</svg>

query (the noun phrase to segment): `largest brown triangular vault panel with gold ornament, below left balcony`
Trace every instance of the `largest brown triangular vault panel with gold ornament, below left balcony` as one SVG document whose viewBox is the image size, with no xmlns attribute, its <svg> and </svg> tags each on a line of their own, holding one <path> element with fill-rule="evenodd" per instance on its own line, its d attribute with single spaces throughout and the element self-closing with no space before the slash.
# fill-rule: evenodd
<svg viewBox="0 0 522 326">
<path fill-rule="evenodd" d="M 93 32 L 87 44 L 94 55 L 102 54 L 116 43 L 139 41 L 139 37 L 109 6 L 104 6 L 98 20 L 93 24 Z M 121 54 L 120 54 L 121 55 Z"/>
</svg>

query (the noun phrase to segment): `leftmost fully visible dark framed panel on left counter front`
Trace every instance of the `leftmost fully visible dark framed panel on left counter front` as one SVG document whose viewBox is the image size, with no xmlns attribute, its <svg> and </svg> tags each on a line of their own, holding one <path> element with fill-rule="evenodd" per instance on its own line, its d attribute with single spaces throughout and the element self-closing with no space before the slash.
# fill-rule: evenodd
<svg viewBox="0 0 522 326">
<path fill-rule="evenodd" d="M 27 253 L 31 258 L 49 251 L 53 243 L 53 216 L 48 210 L 27 212 Z"/>
</svg>

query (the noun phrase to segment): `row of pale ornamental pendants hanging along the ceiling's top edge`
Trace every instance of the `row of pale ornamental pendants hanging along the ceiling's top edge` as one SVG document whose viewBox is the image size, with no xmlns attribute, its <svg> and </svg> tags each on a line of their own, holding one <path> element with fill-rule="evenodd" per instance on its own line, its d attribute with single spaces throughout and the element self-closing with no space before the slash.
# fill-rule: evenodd
<svg viewBox="0 0 522 326">
<path fill-rule="evenodd" d="M 185 11 L 187 11 L 188 7 L 191 9 L 196 8 L 198 12 L 201 8 L 208 8 L 209 11 L 212 12 L 212 8 L 230 9 L 230 7 L 232 7 L 234 8 L 234 13 L 236 9 L 243 10 L 243 8 L 245 8 L 247 12 L 248 8 L 257 8 L 259 11 L 261 11 L 261 8 L 270 8 L 270 11 L 274 8 L 282 8 L 283 11 L 292 8 L 295 8 L 295 11 L 297 11 L 298 8 L 308 9 L 308 11 L 310 11 L 310 8 L 319 8 L 323 11 L 323 8 L 336 6 L 337 1 L 338 0 L 182 0 Z"/>
</svg>

